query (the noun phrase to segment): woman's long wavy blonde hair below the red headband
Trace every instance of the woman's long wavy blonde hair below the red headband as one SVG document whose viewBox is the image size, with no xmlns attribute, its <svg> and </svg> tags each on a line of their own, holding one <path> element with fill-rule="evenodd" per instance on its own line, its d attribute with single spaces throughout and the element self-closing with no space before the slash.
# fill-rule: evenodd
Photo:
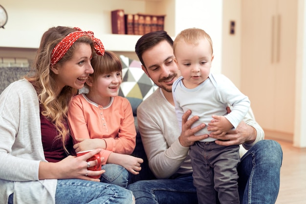
<svg viewBox="0 0 306 204">
<path fill-rule="evenodd" d="M 56 95 L 57 88 L 54 81 L 54 74 L 51 71 L 50 61 L 53 48 L 62 41 L 69 33 L 76 31 L 70 27 L 52 27 L 48 29 L 41 40 L 41 44 L 37 50 L 35 61 L 33 62 L 32 71 L 25 77 L 33 84 L 38 94 L 42 115 L 54 123 L 59 135 L 55 140 L 60 139 L 63 147 L 68 152 L 65 142 L 69 137 L 69 129 L 67 125 L 67 110 L 69 102 L 78 90 L 70 86 L 65 86 L 59 95 Z M 83 36 L 79 38 L 67 51 L 65 56 L 57 63 L 64 63 L 72 58 L 75 47 L 78 43 L 88 43 L 93 50 L 92 40 Z M 55 64 L 56 65 L 56 64 Z"/>
</svg>

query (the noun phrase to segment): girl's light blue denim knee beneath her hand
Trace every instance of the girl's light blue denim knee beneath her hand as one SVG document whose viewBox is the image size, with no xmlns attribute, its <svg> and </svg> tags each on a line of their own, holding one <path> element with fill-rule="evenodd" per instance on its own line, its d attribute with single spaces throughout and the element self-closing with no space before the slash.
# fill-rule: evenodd
<svg viewBox="0 0 306 204">
<path fill-rule="evenodd" d="M 123 166 L 114 163 L 107 163 L 102 166 L 105 173 L 101 175 L 101 182 L 115 184 L 126 188 L 129 184 L 130 174 Z"/>
</svg>

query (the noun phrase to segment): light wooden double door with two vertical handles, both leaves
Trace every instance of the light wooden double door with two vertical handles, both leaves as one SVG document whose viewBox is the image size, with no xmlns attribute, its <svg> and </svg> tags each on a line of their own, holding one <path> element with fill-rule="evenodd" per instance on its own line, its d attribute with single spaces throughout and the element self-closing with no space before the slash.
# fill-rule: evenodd
<svg viewBox="0 0 306 204">
<path fill-rule="evenodd" d="M 241 1 L 241 91 L 265 132 L 276 135 L 293 134 L 296 1 Z"/>
</svg>

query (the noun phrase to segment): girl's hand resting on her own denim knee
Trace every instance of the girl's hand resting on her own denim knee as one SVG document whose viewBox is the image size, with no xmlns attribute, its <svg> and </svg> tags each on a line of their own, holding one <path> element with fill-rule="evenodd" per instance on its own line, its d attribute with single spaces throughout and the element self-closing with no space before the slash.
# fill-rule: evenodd
<svg viewBox="0 0 306 204">
<path fill-rule="evenodd" d="M 120 157 L 120 165 L 125 167 L 128 171 L 130 171 L 132 174 L 139 174 L 139 171 L 141 170 L 141 163 L 143 163 L 143 159 L 138 157 L 133 157 L 131 155 L 122 154 Z"/>
</svg>

